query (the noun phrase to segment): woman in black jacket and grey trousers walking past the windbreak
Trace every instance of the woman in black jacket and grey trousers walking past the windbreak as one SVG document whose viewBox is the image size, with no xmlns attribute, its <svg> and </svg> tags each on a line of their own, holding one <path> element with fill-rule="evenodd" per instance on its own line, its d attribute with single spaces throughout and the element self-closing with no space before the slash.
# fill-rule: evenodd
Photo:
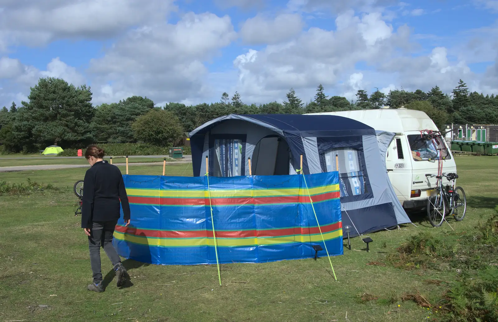
<svg viewBox="0 0 498 322">
<path fill-rule="evenodd" d="M 85 174 L 81 208 L 81 228 L 88 235 L 93 271 L 93 283 L 88 285 L 88 290 L 104 292 L 100 263 L 101 246 L 114 265 L 118 287 L 123 286 L 129 278 L 112 244 L 114 229 L 121 216 L 120 203 L 123 206 L 125 226 L 129 225 L 129 203 L 121 171 L 116 165 L 102 160 L 104 150 L 91 145 L 85 152 L 85 158 L 92 166 Z"/>
</svg>

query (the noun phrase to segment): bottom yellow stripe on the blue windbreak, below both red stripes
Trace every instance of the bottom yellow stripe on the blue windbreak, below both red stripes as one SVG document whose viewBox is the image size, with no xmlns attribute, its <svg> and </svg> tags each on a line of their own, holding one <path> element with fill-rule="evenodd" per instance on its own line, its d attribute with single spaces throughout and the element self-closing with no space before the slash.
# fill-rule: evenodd
<svg viewBox="0 0 498 322">
<path fill-rule="evenodd" d="M 331 240 L 342 236 L 342 229 L 323 234 L 323 238 Z M 148 244 L 150 246 L 163 247 L 186 247 L 186 246 L 214 246 L 213 238 L 145 238 L 134 235 L 123 234 L 115 231 L 114 237 L 121 241 L 134 242 L 139 244 Z M 259 238 L 217 238 L 218 246 L 251 246 L 251 245 L 274 245 L 289 242 L 322 242 L 322 237 L 318 235 L 295 235 L 284 237 L 259 237 Z"/>
</svg>

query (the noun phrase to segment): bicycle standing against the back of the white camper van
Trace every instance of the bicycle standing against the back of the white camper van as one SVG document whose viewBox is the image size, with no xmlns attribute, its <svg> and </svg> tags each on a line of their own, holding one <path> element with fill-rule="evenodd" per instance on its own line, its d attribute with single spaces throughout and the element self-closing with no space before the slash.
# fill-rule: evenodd
<svg viewBox="0 0 498 322">
<path fill-rule="evenodd" d="M 462 187 L 455 187 L 456 173 L 442 173 L 441 175 L 426 174 L 426 177 L 436 178 L 438 186 L 427 191 L 427 216 L 433 227 L 440 227 L 446 215 L 452 215 L 456 221 L 462 221 L 467 210 L 467 198 Z M 442 178 L 446 177 L 451 181 L 451 186 L 443 185 Z M 463 210 L 462 210 L 463 208 Z M 461 215 L 460 215 L 461 213 Z"/>
</svg>

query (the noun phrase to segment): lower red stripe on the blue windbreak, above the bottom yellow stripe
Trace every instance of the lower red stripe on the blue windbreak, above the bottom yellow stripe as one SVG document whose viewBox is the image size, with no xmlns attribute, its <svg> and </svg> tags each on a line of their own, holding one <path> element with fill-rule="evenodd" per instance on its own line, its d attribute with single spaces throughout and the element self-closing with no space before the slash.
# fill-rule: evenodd
<svg viewBox="0 0 498 322">
<path fill-rule="evenodd" d="M 322 226 L 322 233 L 329 233 L 342 228 L 342 223 L 334 223 Z M 198 231 L 160 231 L 160 230 L 144 230 L 134 227 L 116 226 L 116 231 L 135 236 L 154 237 L 154 238 L 199 238 L 199 237 L 213 237 L 213 232 L 209 230 Z M 278 237 L 278 236 L 292 236 L 292 235 L 308 235 L 319 234 L 318 227 L 294 227 L 284 229 L 269 229 L 269 230 L 247 230 L 247 231 L 218 231 L 216 232 L 217 238 L 247 238 L 247 237 Z"/>
</svg>

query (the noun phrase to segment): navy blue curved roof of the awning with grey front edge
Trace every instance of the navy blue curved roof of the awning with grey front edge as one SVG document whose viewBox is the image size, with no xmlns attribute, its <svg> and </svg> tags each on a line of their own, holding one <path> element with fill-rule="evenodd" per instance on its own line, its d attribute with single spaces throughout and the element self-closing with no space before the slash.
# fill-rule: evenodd
<svg viewBox="0 0 498 322">
<path fill-rule="evenodd" d="M 301 114 L 231 114 L 207 122 L 189 135 L 204 135 L 210 129 L 227 119 L 243 119 L 255 124 L 278 129 L 283 133 L 300 133 L 302 137 L 330 137 L 348 135 L 375 135 L 375 130 L 359 121 L 336 115 L 301 115 Z M 259 124 L 262 125 L 262 124 Z M 340 132 L 340 133 L 339 133 Z"/>
</svg>

